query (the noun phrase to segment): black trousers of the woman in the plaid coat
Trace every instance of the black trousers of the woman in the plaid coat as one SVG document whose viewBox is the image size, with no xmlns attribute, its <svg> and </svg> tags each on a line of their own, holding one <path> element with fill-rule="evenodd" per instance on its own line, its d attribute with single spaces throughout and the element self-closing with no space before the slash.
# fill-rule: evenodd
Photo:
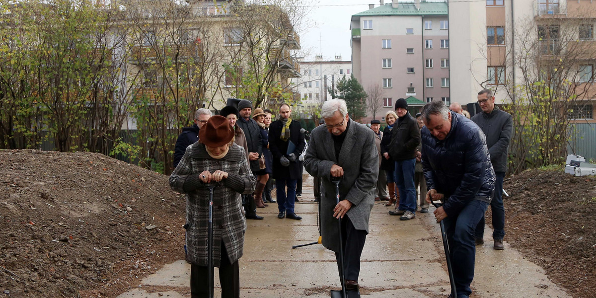
<svg viewBox="0 0 596 298">
<path fill-rule="evenodd" d="M 233 264 L 229 262 L 228 252 L 222 243 L 221 260 L 219 264 L 219 284 L 222 287 L 222 298 L 240 298 L 240 270 L 238 261 Z M 190 292 L 192 298 L 209 298 L 210 284 L 209 268 L 207 266 L 198 266 L 193 263 L 190 269 Z"/>
</svg>

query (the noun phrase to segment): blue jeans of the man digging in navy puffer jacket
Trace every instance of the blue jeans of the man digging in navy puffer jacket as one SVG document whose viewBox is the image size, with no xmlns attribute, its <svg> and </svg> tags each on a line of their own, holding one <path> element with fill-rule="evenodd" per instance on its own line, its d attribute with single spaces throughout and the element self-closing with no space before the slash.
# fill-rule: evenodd
<svg viewBox="0 0 596 298">
<path fill-rule="evenodd" d="M 474 279 L 474 259 L 476 259 L 474 230 L 487 207 L 488 203 L 484 201 L 471 200 L 460 214 L 443 219 L 458 297 L 468 297 L 472 293 L 470 284 Z"/>
</svg>

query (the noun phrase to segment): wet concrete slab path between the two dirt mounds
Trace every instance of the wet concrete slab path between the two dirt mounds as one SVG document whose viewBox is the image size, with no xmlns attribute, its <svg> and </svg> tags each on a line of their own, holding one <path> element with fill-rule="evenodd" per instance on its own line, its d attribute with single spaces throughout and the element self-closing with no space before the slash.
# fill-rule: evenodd
<svg viewBox="0 0 596 298">
<path fill-rule="evenodd" d="M 259 209 L 263 221 L 248 221 L 244 256 L 240 259 L 241 297 L 329 297 L 340 288 L 334 253 L 321 244 L 292 249 L 318 240 L 317 206 L 312 202 L 312 177 L 305 175 L 303 196 L 296 203 L 302 221 L 277 218 L 277 204 Z M 365 297 L 447 297 L 449 277 L 439 225 L 431 213 L 399 221 L 387 214 L 393 207 L 377 203 L 362 253 L 361 294 Z M 476 250 L 471 297 L 571 297 L 553 284 L 539 266 L 505 243 L 492 249 L 492 230 Z M 221 297 L 215 270 L 215 297 Z M 190 265 L 184 260 L 164 266 L 141 285 L 117 298 L 190 297 Z"/>
</svg>

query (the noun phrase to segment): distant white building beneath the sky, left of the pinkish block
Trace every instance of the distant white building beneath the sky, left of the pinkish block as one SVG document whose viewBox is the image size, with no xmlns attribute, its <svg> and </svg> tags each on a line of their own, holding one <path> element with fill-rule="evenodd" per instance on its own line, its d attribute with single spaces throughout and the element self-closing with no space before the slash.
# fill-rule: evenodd
<svg viewBox="0 0 596 298">
<path fill-rule="evenodd" d="M 301 103 L 298 104 L 302 118 L 311 118 L 321 105 L 331 99 L 329 89 L 341 77 L 352 74 L 352 61 L 342 61 L 342 56 L 337 55 L 334 60 L 324 60 L 316 56 L 315 61 L 300 61 L 302 73 L 296 81 L 296 90 L 300 93 Z"/>
</svg>

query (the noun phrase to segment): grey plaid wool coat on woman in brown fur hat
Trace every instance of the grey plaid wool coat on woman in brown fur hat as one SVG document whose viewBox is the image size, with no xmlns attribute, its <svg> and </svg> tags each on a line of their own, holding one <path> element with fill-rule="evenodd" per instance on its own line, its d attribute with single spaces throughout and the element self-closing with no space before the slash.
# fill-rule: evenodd
<svg viewBox="0 0 596 298">
<path fill-rule="evenodd" d="M 213 265 L 219 267 L 222 241 L 231 263 L 242 256 L 246 218 L 242 213 L 240 194 L 252 194 L 256 179 L 250 171 L 244 148 L 237 144 L 232 144 L 222 159 L 210 157 L 205 145 L 200 142 L 187 147 L 182 160 L 170 175 L 170 187 L 187 194 L 187 260 L 199 266 L 207 266 L 209 190 L 200 184 L 191 188 L 191 191 L 189 185 L 184 187 L 184 182 L 203 170 L 228 173 L 228 178 L 223 179 L 213 190 Z"/>
</svg>

